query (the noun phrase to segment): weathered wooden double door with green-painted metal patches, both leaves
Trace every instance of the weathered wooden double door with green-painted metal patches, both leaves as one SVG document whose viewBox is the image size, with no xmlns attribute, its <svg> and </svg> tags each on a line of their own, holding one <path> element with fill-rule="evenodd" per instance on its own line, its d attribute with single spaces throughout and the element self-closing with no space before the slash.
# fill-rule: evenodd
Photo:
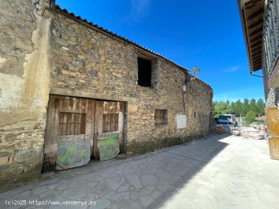
<svg viewBox="0 0 279 209">
<path fill-rule="evenodd" d="M 50 95 L 44 162 L 56 170 L 116 157 L 124 148 L 124 102 Z"/>
</svg>

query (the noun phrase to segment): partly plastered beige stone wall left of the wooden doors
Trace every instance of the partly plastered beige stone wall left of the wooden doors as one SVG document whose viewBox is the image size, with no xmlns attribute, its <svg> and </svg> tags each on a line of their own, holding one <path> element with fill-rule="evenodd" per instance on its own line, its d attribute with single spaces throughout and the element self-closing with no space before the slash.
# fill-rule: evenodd
<svg viewBox="0 0 279 209">
<path fill-rule="evenodd" d="M 52 53 L 51 18 L 36 15 L 29 0 L 0 0 L 0 5 L 0 190 L 4 190 L 40 177 Z"/>
</svg>

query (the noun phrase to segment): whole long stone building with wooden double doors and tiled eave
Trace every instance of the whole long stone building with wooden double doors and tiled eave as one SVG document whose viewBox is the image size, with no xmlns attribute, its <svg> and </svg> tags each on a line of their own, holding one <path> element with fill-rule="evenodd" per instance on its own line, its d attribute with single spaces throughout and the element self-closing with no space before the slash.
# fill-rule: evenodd
<svg viewBox="0 0 279 209">
<path fill-rule="evenodd" d="M 2 190 L 208 131 L 213 90 L 186 68 L 55 1 L 0 3 Z"/>
</svg>

